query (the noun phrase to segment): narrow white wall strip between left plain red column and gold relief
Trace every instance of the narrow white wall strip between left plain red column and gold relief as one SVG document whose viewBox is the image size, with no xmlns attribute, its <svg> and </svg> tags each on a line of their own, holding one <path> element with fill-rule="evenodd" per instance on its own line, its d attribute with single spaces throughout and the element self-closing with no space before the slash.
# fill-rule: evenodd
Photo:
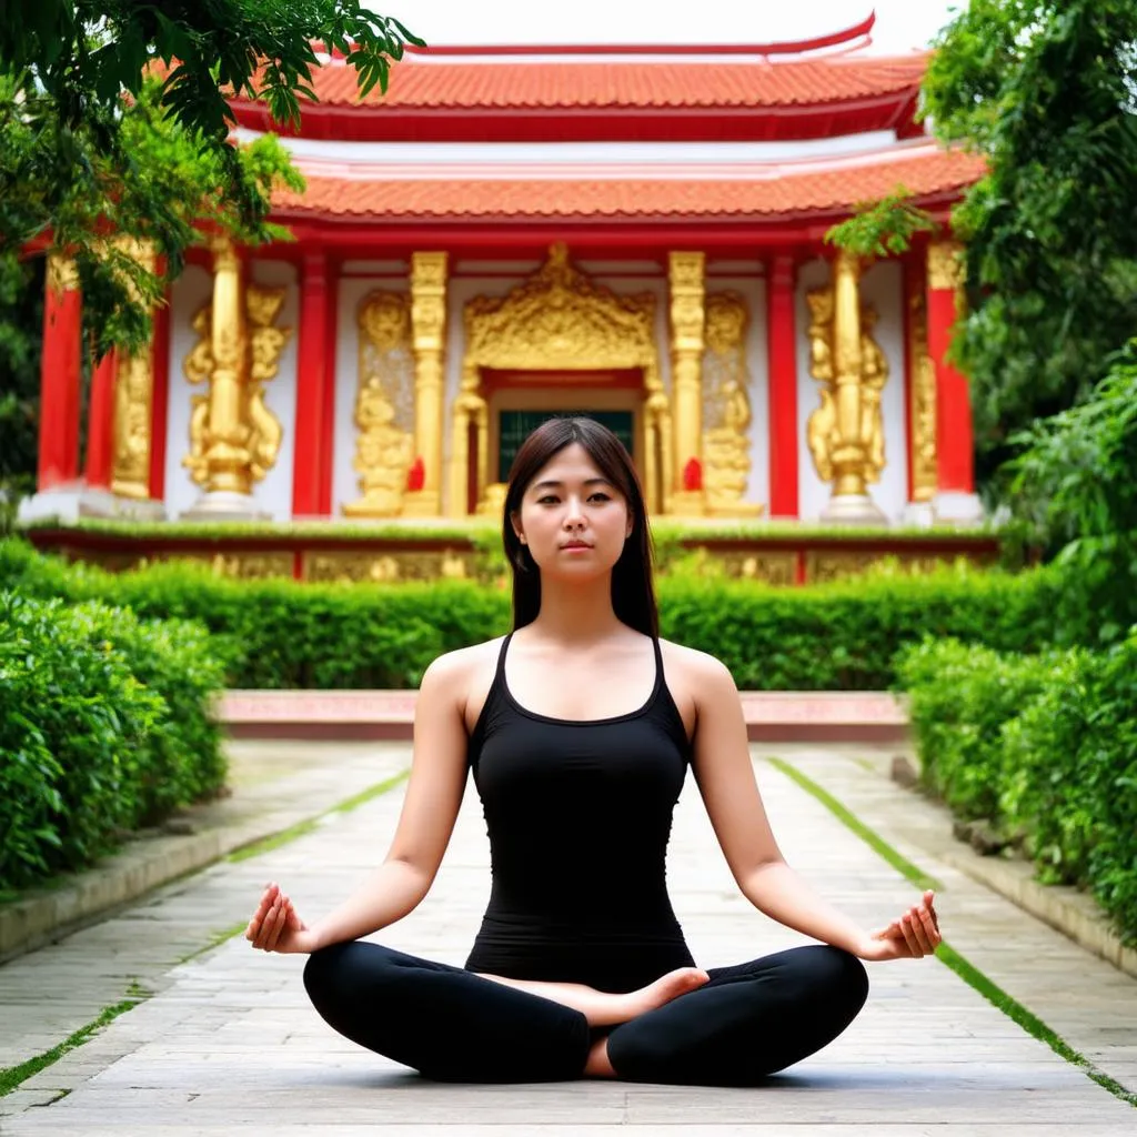
<svg viewBox="0 0 1137 1137">
<path fill-rule="evenodd" d="M 335 399 L 332 423 L 332 512 L 343 520 L 343 505 L 360 497 L 355 460 L 355 402 L 359 387 L 359 304 L 368 292 L 408 292 L 408 266 L 401 262 L 348 262 L 335 301 Z"/>
</svg>

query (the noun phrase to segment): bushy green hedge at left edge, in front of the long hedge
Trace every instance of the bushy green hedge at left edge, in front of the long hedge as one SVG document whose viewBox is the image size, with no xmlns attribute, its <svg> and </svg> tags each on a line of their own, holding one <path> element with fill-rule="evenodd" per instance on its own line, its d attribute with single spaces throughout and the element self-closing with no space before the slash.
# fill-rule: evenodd
<svg viewBox="0 0 1137 1137">
<path fill-rule="evenodd" d="M 216 794 L 223 678 L 199 624 L 0 592 L 0 888 Z"/>
</svg>

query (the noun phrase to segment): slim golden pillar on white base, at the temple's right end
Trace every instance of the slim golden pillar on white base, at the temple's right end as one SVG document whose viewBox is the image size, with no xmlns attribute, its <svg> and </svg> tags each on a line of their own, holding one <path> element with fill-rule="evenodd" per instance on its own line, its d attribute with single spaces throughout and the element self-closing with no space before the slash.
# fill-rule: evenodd
<svg viewBox="0 0 1137 1137">
<path fill-rule="evenodd" d="M 844 249 L 838 252 L 833 265 L 832 385 L 836 432 L 830 451 L 833 496 L 821 518 L 853 524 L 883 524 L 886 517 L 868 490 L 868 482 L 875 480 L 875 470 L 870 453 L 873 440 L 865 415 L 866 359 L 862 351 L 860 276 L 857 258 Z M 873 376 L 874 383 L 879 379 L 879 385 L 882 385 L 885 377 L 887 365 L 883 376 Z M 875 389 L 878 404 L 879 385 Z"/>
</svg>

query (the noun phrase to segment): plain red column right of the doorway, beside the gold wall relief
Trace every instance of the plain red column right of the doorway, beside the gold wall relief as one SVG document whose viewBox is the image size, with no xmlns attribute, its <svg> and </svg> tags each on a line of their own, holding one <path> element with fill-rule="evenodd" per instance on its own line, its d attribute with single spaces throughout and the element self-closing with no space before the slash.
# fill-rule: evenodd
<svg viewBox="0 0 1137 1137">
<path fill-rule="evenodd" d="M 766 284 L 766 347 L 770 370 L 770 516 L 796 517 L 797 335 L 792 257 L 774 257 Z"/>
</svg>

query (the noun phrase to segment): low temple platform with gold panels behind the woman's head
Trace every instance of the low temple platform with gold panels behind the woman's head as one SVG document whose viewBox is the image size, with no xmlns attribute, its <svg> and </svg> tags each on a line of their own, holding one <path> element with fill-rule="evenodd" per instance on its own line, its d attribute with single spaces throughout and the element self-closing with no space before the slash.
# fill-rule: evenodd
<svg viewBox="0 0 1137 1137">
<path fill-rule="evenodd" d="M 185 523 L 85 520 L 28 526 L 28 539 L 58 553 L 119 571 L 184 559 L 243 579 L 396 582 L 500 579 L 498 528 L 488 521 Z M 677 521 L 653 524 L 657 565 L 666 573 L 691 555 L 727 576 L 769 584 L 823 583 L 891 561 L 930 572 L 964 559 L 998 559 L 995 531 L 954 526 L 854 529 L 779 522 Z M 700 553 L 702 550 L 702 553 Z"/>
</svg>

